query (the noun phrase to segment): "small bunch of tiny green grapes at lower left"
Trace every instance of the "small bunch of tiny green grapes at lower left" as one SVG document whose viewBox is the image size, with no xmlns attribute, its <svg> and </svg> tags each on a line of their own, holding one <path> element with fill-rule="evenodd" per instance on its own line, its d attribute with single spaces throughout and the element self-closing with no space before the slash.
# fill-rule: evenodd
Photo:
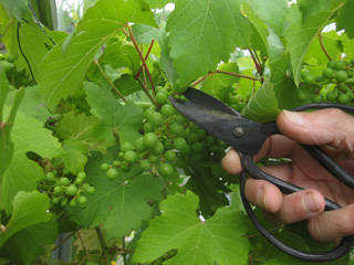
<svg viewBox="0 0 354 265">
<path fill-rule="evenodd" d="M 81 208 L 85 208 L 87 202 L 86 194 L 95 192 L 94 187 L 84 183 L 85 179 L 85 172 L 79 172 L 76 178 L 73 179 L 52 170 L 46 173 L 41 189 L 49 194 L 53 204 L 60 204 L 61 206 L 75 206 L 79 204 Z"/>
</svg>

